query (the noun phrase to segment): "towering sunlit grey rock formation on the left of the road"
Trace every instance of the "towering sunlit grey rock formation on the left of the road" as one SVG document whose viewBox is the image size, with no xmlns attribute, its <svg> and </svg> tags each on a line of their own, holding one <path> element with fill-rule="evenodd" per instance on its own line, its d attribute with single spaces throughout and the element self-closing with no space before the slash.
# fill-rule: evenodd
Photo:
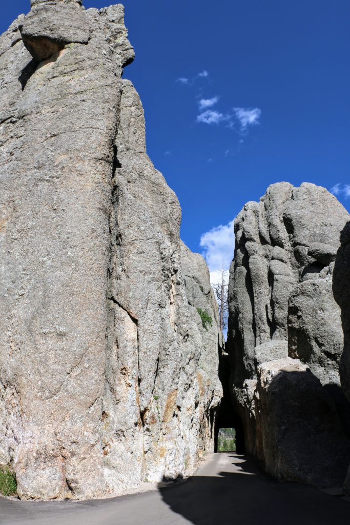
<svg viewBox="0 0 350 525">
<path fill-rule="evenodd" d="M 217 312 L 186 297 L 123 6 L 32 6 L 0 37 L 0 464 L 22 498 L 95 498 L 213 448 Z"/>
</svg>

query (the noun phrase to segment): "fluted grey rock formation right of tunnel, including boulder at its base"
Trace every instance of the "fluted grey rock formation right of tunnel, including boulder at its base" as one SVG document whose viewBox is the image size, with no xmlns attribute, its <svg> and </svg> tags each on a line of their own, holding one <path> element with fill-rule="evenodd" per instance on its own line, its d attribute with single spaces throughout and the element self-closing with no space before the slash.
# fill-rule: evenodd
<svg viewBox="0 0 350 525">
<path fill-rule="evenodd" d="M 277 477 L 324 486 L 342 484 L 350 451 L 341 315 L 332 293 L 348 219 L 322 187 L 273 184 L 237 216 L 230 269 L 231 395 L 246 448 Z M 303 416 L 308 388 L 311 423 Z M 337 443 L 338 453 L 315 446 L 318 439 Z"/>
</svg>

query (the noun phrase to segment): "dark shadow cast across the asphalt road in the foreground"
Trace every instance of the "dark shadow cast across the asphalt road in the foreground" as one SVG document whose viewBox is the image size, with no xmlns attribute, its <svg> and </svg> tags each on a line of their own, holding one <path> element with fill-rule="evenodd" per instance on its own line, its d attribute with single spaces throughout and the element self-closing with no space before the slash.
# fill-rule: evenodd
<svg viewBox="0 0 350 525">
<path fill-rule="evenodd" d="M 228 455 L 233 472 L 194 476 L 160 488 L 163 501 L 194 525 L 337 525 L 350 503 L 308 485 L 280 483 L 247 455 Z M 231 470 L 229 468 L 228 470 Z"/>
</svg>

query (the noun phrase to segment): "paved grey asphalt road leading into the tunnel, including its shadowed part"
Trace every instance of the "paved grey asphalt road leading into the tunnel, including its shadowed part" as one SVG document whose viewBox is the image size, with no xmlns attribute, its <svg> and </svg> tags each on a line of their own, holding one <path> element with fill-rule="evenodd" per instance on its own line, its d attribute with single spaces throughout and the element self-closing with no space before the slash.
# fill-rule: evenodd
<svg viewBox="0 0 350 525">
<path fill-rule="evenodd" d="M 278 483 L 247 455 L 215 454 L 187 481 L 108 500 L 0 498 L 6 525 L 347 525 L 350 502 L 306 485 Z"/>
</svg>

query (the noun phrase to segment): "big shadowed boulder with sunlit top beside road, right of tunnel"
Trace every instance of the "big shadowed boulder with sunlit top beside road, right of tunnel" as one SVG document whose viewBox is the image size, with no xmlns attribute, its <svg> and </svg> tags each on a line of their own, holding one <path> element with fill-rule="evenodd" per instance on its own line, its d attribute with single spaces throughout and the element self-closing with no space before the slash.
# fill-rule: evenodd
<svg viewBox="0 0 350 525">
<path fill-rule="evenodd" d="M 279 480 L 341 487 L 350 459 L 336 408 L 319 379 L 298 359 L 258 367 L 258 456 Z"/>
</svg>

